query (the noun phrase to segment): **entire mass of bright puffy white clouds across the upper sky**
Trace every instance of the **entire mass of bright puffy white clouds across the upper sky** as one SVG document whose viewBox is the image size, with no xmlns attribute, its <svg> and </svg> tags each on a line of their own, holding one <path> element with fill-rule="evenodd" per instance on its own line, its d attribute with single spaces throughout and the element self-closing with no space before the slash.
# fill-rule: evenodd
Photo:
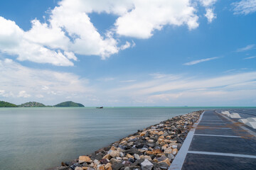
<svg viewBox="0 0 256 170">
<path fill-rule="evenodd" d="M 196 1 L 193 1 L 196 3 Z M 31 21 L 24 31 L 14 21 L 0 17 L 0 52 L 18 56 L 18 60 L 73 66 L 75 55 L 97 55 L 106 59 L 119 50 L 134 47 L 134 42 L 119 45 L 118 36 L 150 38 L 164 26 L 198 27 L 196 5 L 190 0 L 62 0 L 48 11 L 46 23 Z M 205 7 L 215 0 L 201 0 Z M 90 21 L 89 13 L 117 16 L 114 26 L 100 34 Z M 215 18 L 208 8 L 208 21 Z M 122 44 L 122 43 L 120 43 Z"/>
</svg>

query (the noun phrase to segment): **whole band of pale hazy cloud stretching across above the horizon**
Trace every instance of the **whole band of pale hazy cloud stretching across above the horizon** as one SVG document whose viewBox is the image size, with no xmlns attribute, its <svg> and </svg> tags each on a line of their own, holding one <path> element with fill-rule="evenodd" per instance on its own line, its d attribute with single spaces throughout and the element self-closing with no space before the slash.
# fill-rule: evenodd
<svg viewBox="0 0 256 170">
<path fill-rule="evenodd" d="M 127 80 L 89 80 L 68 72 L 23 67 L 6 59 L 0 60 L 0 72 L 0 100 L 16 104 L 39 101 L 53 105 L 72 100 L 85 106 L 250 106 L 256 92 L 256 72 L 252 70 L 215 77 L 154 73 Z"/>
</svg>

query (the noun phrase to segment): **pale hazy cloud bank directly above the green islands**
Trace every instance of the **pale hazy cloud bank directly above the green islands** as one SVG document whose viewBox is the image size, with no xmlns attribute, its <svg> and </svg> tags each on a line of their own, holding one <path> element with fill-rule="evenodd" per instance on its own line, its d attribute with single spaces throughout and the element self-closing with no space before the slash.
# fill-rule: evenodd
<svg viewBox="0 0 256 170">
<path fill-rule="evenodd" d="M 75 74 L 30 69 L 9 59 L 0 60 L 0 72 L 0 96 L 15 98 L 16 102 L 35 97 L 49 102 L 71 94 L 86 96 L 94 91 L 87 79 Z"/>
</svg>

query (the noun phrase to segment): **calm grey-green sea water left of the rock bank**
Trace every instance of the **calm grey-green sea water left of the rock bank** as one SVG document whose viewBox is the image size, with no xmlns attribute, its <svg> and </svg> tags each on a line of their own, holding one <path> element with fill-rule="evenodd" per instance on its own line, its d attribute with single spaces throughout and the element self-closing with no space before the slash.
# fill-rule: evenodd
<svg viewBox="0 0 256 170">
<path fill-rule="evenodd" d="M 0 108 L 0 169 L 59 166 L 161 120 L 198 110 L 203 108 Z"/>
</svg>

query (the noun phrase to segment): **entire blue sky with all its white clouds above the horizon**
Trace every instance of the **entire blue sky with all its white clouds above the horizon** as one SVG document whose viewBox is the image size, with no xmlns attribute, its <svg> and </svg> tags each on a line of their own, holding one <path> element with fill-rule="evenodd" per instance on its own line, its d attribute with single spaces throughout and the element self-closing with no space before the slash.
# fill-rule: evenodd
<svg viewBox="0 0 256 170">
<path fill-rule="evenodd" d="M 256 1 L 0 2 L 0 100 L 255 106 Z"/>
</svg>

